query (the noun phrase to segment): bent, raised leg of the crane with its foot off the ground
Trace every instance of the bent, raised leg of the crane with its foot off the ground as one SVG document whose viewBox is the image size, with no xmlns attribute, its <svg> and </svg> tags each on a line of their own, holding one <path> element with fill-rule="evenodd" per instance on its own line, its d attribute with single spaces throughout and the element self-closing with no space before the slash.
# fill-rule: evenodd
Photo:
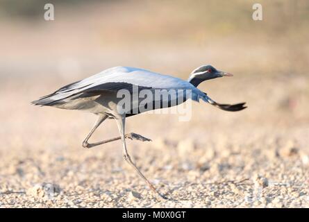
<svg viewBox="0 0 309 222">
<path fill-rule="evenodd" d="M 89 144 L 88 143 L 88 140 L 90 139 L 90 137 L 92 136 L 92 134 L 94 133 L 94 131 L 100 126 L 100 124 L 106 120 L 108 116 L 103 114 L 103 115 L 100 115 L 99 118 L 97 119 L 97 121 L 94 123 L 94 126 L 92 127 L 92 130 L 90 131 L 90 133 L 87 135 L 87 137 L 85 138 L 85 140 L 83 141 L 83 147 L 85 148 L 92 148 L 94 146 L 98 146 L 98 145 L 101 145 L 101 144 L 107 144 L 109 142 L 113 142 L 115 140 L 119 140 L 119 139 L 122 139 L 122 137 L 114 137 L 114 138 L 111 138 L 111 139 L 106 139 L 106 140 L 103 140 L 101 142 L 95 142 L 95 143 L 92 143 L 92 144 Z M 137 133 L 128 133 L 126 135 L 124 135 L 126 138 L 128 139 L 136 139 L 136 140 L 140 140 L 142 142 L 145 142 L 145 141 L 151 141 L 151 139 L 148 139 L 146 137 L 143 137 L 142 135 L 139 135 Z"/>
</svg>

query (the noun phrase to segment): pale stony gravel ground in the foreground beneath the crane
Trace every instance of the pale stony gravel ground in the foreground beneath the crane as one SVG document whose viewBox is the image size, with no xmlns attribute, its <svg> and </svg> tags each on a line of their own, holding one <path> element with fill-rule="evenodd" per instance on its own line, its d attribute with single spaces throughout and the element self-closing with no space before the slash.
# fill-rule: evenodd
<svg viewBox="0 0 309 222">
<path fill-rule="evenodd" d="M 222 137 L 220 135 L 219 137 Z M 159 141 L 158 141 L 159 140 Z M 309 157 L 294 142 L 128 142 L 137 165 L 170 200 L 156 200 L 108 147 L 7 154 L 1 207 L 309 207 Z M 212 141 L 214 142 L 214 141 Z M 120 145 L 114 145 L 119 148 Z M 22 154 L 22 156 L 21 156 Z M 1 155 L 3 156 L 3 155 Z"/>
</svg>

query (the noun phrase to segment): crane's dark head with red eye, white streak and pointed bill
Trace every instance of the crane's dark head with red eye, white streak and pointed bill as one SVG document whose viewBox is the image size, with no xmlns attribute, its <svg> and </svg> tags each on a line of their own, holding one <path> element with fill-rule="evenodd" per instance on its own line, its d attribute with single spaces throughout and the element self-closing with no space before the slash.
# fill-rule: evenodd
<svg viewBox="0 0 309 222">
<path fill-rule="evenodd" d="M 197 87 L 199 83 L 209 80 L 212 78 L 218 78 L 222 76 L 233 76 L 233 74 L 229 74 L 224 71 L 219 71 L 212 67 L 211 65 L 202 65 L 197 69 L 194 69 L 188 79 L 188 82 Z"/>
</svg>

